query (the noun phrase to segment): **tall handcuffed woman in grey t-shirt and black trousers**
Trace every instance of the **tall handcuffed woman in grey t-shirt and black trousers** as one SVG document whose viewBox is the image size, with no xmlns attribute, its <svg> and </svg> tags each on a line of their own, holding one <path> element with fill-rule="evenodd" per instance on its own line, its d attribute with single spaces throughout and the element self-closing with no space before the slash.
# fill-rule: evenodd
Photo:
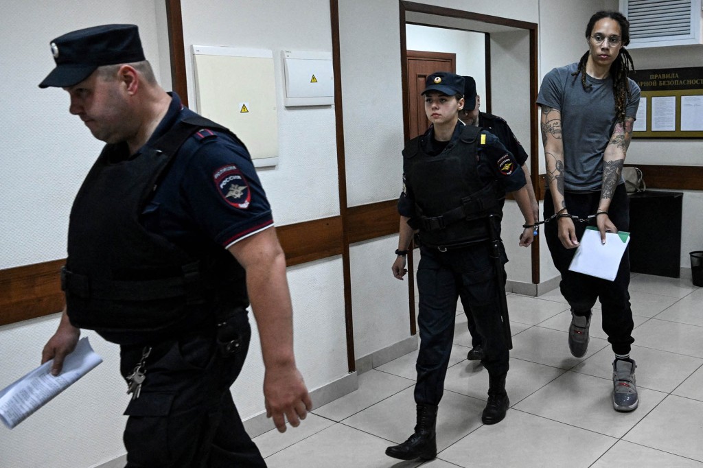
<svg viewBox="0 0 703 468">
<path fill-rule="evenodd" d="M 589 219 L 605 233 L 629 230 L 629 208 L 621 171 L 640 103 L 640 89 L 628 78 L 633 67 L 625 46 L 628 20 L 617 11 L 599 11 L 586 26 L 586 52 L 579 63 L 551 70 L 537 103 L 547 169 L 544 233 L 560 288 L 572 309 L 569 350 L 576 358 L 588 350 L 591 309 L 600 300 L 602 328 L 615 353 L 612 404 L 637 408 L 635 361 L 630 358 L 633 321 L 630 308 L 630 261 L 626 251 L 614 281 L 569 271 L 575 247 Z"/>
</svg>

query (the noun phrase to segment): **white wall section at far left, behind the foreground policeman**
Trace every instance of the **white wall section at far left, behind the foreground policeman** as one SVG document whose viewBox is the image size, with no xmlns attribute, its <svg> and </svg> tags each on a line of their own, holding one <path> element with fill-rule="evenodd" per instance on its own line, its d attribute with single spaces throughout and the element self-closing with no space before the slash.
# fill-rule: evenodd
<svg viewBox="0 0 703 468">
<path fill-rule="evenodd" d="M 0 269 L 66 256 L 68 213 L 101 143 L 68 113 L 67 93 L 37 86 L 54 67 L 55 37 L 111 22 L 140 27 L 145 53 L 160 74 L 155 2 L 2 1 L 0 106 Z M 39 365 L 58 315 L 0 327 L 0 388 Z M 12 431 L 0 427 L 0 466 L 87 467 L 124 451 L 122 412 L 128 397 L 117 346 L 91 332 L 104 362 L 76 386 Z"/>
</svg>

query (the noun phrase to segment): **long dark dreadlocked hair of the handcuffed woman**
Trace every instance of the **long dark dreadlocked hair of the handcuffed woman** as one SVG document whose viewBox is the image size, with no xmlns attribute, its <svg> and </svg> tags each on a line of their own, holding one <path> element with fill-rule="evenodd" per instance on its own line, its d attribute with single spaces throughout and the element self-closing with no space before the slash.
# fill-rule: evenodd
<svg viewBox="0 0 703 468">
<path fill-rule="evenodd" d="M 615 58 L 612 65 L 610 65 L 610 75 L 613 79 L 615 119 L 616 122 L 624 122 L 627 98 L 630 95 L 630 82 L 628 80 L 628 74 L 635 70 L 635 63 L 633 62 L 630 53 L 624 47 L 630 44 L 630 22 L 628 22 L 627 18 L 625 18 L 619 11 L 599 11 L 591 16 L 591 20 L 588 21 L 588 25 L 586 26 L 586 39 L 591 38 L 593 26 L 596 22 L 598 22 L 598 20 L 602 20 L 602 18 L 612 18 L 620 25 L 623 47 L 620 49 L 620 53 L 617 58 Z M 579 66 L 576 68 L 576 72 L 572 73 L 572 77 L 574 77 L 574 79 L 579 76 L 579 73 L 581 74 L 581 86 L 583 86 L 583 89 L 586 91 L 592 87 L 590 84 L 586 83 L 586 63 L 588 63 L 588 56 L 590 54 L 590 51 L 583 54 L 581 60 L 579 60 Z"/>
</svg>

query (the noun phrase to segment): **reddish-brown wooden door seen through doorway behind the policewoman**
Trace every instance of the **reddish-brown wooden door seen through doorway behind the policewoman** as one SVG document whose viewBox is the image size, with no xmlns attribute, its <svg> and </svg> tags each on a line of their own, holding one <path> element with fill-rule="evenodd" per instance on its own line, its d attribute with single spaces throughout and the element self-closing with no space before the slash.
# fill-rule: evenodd
<svg viewBox="0 0 703 468">
<path fill-rule="evenodd" d="M 456 53 L 407 51 L 408 56 L 408 110 L 409 138 L 425 133 L 430 121 L 425 114 L 425 100 L 420 93 L 425 89 L 427 75 L 434 72 L 456 73 Z"/>
</svg>

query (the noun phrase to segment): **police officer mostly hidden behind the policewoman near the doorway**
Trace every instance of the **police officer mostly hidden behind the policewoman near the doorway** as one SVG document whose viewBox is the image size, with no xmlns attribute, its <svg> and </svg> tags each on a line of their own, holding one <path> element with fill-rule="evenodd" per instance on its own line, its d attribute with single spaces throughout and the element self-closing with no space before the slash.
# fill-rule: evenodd
<svg viewBox="0 0 703 468">
<path fill-rule="evenodd" d="M 459 111 L 459 119 L 467 125 L 479 126 L 486 131 L 490 131 L 491 134 L 498 137 L 498 140 L 503 143 L 505 149 L 510 151 L 510 154 L 515 157 L 517 164 L 520 164 L 520 168 L 525 174 L 525 180 L 527 181 L 527 193 L 529 194 L 532 214 L 534 215 L 535 221 L 537 221 L 539 219 L 539 204 L 534 195 L 534 188 L 532 187 L 529 168 L 527 167 L 527 152 L 525 152 L 524 148 L 522 148 L 520 141 L 517 141 L 515 134 L 512 133 L 512 130 L 510 129 L 510 126 L 508 126 L 508 122 L 505 122 L 505 119 L 487 112 L 480 112 L 480 107 L 481 96 L 476 93 L 475 79 L 473 79 L 473 77 L 464 77 L 464 107 Z M 503 193 L 501 197 L 501 207 L 504 202 L 505 193 Z M 464 307 L 464 313 L 466 314 L 466 323 L 469 327 L 469 334 L 471 335 L 471 349 L 467 353 L 466 358 L 468 360 L 481 360 L 483 358 L 481 336 L 476 331 L 476 323 L 473 316 L 469 313 L 468 299 L 463 296 L 461 296 L 460 299 L 461 304 Z"/>
</svg>

